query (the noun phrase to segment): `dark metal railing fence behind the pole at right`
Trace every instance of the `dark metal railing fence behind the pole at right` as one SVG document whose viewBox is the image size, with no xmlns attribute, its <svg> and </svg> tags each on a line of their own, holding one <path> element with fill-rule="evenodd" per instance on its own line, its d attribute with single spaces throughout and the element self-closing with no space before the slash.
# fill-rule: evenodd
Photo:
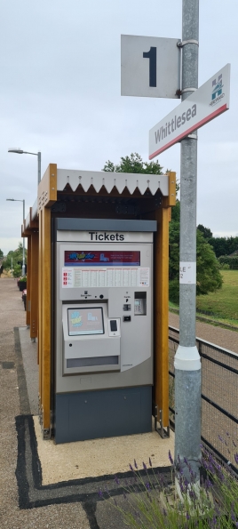
<svg viewBox="0 0 238 529">
<path fill-rule="evenodd" d="M 174 427 L 174 356 L 179 331 L 169 327 L 170 421 Z M 238 355 L 196 338 L 202 361 L 202 442 L 234 467 L 238 454 Z"/>
</svg>

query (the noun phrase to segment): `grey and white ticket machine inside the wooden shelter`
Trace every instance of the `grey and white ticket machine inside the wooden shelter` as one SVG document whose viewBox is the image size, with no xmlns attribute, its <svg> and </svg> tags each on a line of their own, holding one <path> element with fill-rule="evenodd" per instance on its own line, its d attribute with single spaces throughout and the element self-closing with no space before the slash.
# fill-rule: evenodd
<svg viewBox="0 0 238 529">
<path fill-rule="evenodd" d="M 56 443 L 151 430 L 155 220 L 54 219 Z"/>
</svg>

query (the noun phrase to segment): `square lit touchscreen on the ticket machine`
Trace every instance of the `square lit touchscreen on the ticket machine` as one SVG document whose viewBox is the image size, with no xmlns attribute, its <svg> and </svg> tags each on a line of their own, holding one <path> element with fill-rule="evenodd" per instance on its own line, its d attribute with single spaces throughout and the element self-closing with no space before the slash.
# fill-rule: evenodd
<svg viewBox="0 0 238 529">
<path fill-rule="evenodd" d="M 67 325 L 69 336 L 104 334 L 102 308 L 67 309 Z"/>
</svg>

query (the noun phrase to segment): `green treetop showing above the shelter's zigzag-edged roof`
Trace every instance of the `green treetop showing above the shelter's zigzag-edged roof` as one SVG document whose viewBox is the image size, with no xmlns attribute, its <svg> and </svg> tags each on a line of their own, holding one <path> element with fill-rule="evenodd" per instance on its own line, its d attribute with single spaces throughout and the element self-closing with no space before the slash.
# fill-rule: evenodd
<svg viewBox="0 0 238 529">
<path fill-rule="evenodd" d="M 122 156 L 120 164 L 115 165 L 110 160 L 104 165 L 102 171 L 106 172 L 140 172 L 142 174 L 163 174 L 163 167 L 156 162 L 143 162 L 141 156 L 131 153 L 131 156 Z"/>
</svg>

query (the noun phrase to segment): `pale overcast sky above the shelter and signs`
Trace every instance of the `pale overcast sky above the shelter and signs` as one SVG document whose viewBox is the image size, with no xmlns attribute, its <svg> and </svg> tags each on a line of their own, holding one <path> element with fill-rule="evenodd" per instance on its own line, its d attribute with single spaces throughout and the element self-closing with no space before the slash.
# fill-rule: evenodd
<svg viewBox="0 0 238 529">
<path fill-rule="evenodd" d="M 237 0 L 200 0 L 199 86 L 231 63 L 230 109 L 198 131 L 197 224 L 238 235 Z M 182 0 L 4 0 L 0 3 L 0 248 L 17 248 L 20 202 L 36 200 L 42 174 L 101 171 L 137 152 L 179 100 L 121 96 L 121 35 L 181 38 Z M 180 146 L 157 158 L 180 172 Z"/>
</svg>

